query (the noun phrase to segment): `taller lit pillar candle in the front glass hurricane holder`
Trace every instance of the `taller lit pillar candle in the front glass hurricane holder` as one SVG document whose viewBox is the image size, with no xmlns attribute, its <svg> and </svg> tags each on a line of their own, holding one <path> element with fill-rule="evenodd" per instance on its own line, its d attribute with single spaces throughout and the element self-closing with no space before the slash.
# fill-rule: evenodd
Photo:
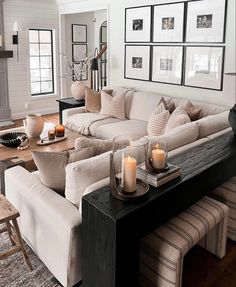
<svg viewBox="0 0 236 287">
<path fill-rule="evenodd" d="M 125 157 L 123 168 L 123 189 L 126 192 L 134 192 L 136 190 L 136 159 L 130 156 Z"/>
</svg>

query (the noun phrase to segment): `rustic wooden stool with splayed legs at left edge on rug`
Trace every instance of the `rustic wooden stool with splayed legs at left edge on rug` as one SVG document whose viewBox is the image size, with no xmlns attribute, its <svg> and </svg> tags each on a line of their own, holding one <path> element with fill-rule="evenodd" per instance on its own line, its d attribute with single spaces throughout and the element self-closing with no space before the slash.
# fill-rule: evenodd
<svg viewBox="0 0 236 287">
<path fill-rule="evenodd" d="M 0 194 L 0 224 L 2 223 L 6 224 L 6 227 L 2 228 L 0 230 L 0 233 L 7 231 L 11 244 L 13 245 L 13 247 L 11 247 L 9 250 L 0 254 L 0 259 L 4 259 L 9 255 L 21 251 L 24 256 L 26 264 L 28 265 L 30 271 L 32 271 L 33 267 L 30 263 L 29 257 L 24 248 L 23 240 L 21 238 L 19 226 L 16 220 L 16 218 L 19 216 L 20 214 L 15 209 L 15 207 L 12 206 L 11 203 L 2 194 Z M 10 221 L 12 221 L 13 226 L 11 226 Z M 12 233 L 12 229 L 13 231 L 15 230 L 16 235 Z"/>
</svg>

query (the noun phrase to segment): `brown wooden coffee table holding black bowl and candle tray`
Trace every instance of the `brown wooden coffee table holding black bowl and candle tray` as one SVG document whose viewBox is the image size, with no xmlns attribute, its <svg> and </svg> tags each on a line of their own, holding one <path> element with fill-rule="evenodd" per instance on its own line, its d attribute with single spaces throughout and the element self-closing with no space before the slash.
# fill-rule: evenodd
<svg viewBox="0 0 236 287">
<path fill-rule="evenodd" d="M 0 134 L 4 134 L 7 132 L 14 132 L 14 131 L 25 132 L 24 127 L 20 127 L 20 128 L 2 131 L 0 132 Z M 50 145 L 45 145 L 45 146 L 37 145 L 37 141 L 39 140 L 39 138 L 30 138 L 29 139 L 30 146 L 24 150 L 18 150 L 17 148 L 9 148 L 9 147 L 6 147 L 0 144 L 0 177 L 1 177 L 0 191 L 2 191 L 2 193 L 4 194 L 4 171 L 7 168 L 10 168 L 16 165 L 22 165 L 29 171 L 33 171 L 37 169 L 32 158 L 32 154 L 31 154 L 32 151 L 60 152 L 60 151 L 73 149 L 75 139 L 78 137 L 82 137 L 82 135 L 74 131 L 71 131 L 69 129 L 65 130 L 65 135 L 67 136 L 67 139 L 50 144 Z"/>
</svg>

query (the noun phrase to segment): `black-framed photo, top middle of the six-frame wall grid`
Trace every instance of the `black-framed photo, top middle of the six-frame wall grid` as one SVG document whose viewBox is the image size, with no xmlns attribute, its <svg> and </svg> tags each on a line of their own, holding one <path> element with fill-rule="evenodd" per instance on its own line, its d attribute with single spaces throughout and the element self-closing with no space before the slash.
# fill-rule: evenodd
<svg viewBox="0 0 236 287">
<path fill-rule="evenodd" d="M 173 12 L 171 12 L 170 17 L 170 12 L 163 14 L 164 11 L 161 11 L 162 8 L 165 7 L 171 7 L 173 9 Z M 179 6 L 179 7 L 178 7 Z M 159 11 L 158 11 L 159 9 Z M 180 15 L 175 14 L 178 12 L 178 9 L 182 11 L 179 11 Z M 161 18 L 158 18 L 161 17 Z M 175 17 L 174 17 L 175 16 Z M 177 18 L 176 21 L 176 17 Z M 169 20 L 169 18 L 172 19 L 172 25 L 171 28 L 168 29 L 168 22 L 167 22 L 167 27 L 164 29 L 164 23 L 163 21 Z M 157 4 L 153 5 L 153 12 L 152 12 L 152 42 L 153 43 L 183 43 L 185 39 L 185 19 L 186 19 L 186 2 L 172 2 L 172 3 L 163 3 L 163 4 Z M 158 21 L 159 20 L 159 21 Z M 162 20 L 162 23 L 160 22 Z M 177 28 L 180 33 L 180 35 L 177 37 Z M 171 31 L 173 29 L 173 31 Z M 165 33 L 166 30 L 166 33 Z M 163 39 L 161 39 L 161 36 Z M 158 38 L 159 39 L 158 39 Z M 177 38 L 177 39 L 176 39 Z"/>
</svg>

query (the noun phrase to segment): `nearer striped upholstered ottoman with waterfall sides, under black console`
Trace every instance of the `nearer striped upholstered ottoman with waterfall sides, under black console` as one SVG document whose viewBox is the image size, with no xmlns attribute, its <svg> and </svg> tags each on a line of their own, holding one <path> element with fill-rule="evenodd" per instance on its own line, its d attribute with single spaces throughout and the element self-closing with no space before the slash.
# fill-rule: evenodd
<svg viewBox="0 0 236 287">
<path fill-rule="evenodd" d="M 180 287 L 183 259 L 196 244 L 225 255 L 229 208 L 212 198 L 181 212 L 140 242 L 140 286 Z"/>
</svg>

